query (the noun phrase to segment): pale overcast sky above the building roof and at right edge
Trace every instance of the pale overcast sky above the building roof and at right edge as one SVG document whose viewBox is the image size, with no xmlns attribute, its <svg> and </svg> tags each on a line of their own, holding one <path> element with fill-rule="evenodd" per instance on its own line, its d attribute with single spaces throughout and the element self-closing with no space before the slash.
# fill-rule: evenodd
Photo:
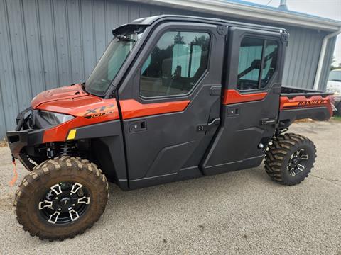
<svg viewBox="0 0 341 255">
<path fill-rule="evenodd" d="M 280 0 L 245 0 L 256 4 L 268 4 L 278 7 Z M 324 18 L 341 21 L 341 0 L 287 0 L 286 5 L 291 11 L 313 14 Z M 335 63 L 341 63 L 341 34 L 337 36 L 335 45 Z"/>
</svg>

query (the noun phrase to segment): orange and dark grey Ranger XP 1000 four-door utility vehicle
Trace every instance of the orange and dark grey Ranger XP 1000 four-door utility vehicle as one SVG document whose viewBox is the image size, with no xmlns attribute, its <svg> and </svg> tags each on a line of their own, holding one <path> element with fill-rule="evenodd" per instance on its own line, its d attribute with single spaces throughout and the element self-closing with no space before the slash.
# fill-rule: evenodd
<svg viewBox="0 0 341 255">
<path fill-rule="evenodd" d="M 297 119 L 328 120 L 331 94 L 281 86 L 286 30 L 154 16 L 112 32 L 85 83 L 38 94 L 7 132 L 31 171 L 15 200 L 31 235 L 91 227 L 107 179 L 129 190 L 248 169 L 264 156 L 278 183 L 308 176 L 315 146 L 286 131 Z"/>
</svg>

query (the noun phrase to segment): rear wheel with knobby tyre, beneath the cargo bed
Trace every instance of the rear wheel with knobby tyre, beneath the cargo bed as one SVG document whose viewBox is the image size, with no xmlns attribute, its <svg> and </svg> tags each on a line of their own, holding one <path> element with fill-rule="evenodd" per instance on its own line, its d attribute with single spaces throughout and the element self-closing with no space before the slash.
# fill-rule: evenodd
<svg viewBox="0 0 341 255">
<path fill-rule="evenodd" d="M 278 135 L 265 155 L 265 169 L 272 180 L 292 186 L 308 176 L 315 162 L 316 149 L 312 141 L 302 135 Z"/>
</svg>

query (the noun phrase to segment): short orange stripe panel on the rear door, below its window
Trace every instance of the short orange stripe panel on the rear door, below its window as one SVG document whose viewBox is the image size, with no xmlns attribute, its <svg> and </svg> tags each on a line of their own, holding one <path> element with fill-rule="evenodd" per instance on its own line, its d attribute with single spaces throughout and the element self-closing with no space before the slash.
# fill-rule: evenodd
<svg viewBox="0 0 341 255">
<path fill-rule="evenodd" d="M 266 97 L 266 92 L 252 93 L 252 94 L 240 94 L 238 91 L 234 89 L 225 89 L 224 98 L 222 103 L 224 105 L 232 104 L 232 103 L 244 103 L 251 101 L 260 101 Z"/>
</svg>

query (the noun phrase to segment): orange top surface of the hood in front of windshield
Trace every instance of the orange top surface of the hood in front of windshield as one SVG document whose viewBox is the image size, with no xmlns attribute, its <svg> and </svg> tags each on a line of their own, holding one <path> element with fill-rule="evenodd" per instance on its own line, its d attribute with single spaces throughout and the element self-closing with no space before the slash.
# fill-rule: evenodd
<svg viewBox="0 0 341 255">
<path fill-rule="evenodd" d="M 50 89 L 48 91 L 43 91 L 33 98 L 31 101 L 31 106 L 33 109 L 38 108 L 43 103 L 60 101 L 70 98 L 79 98 L 81 96 L 87 96 L 81 84 L 75 84 L 71 86 L 63 86 L 57 89 Z"/>
</svg>

